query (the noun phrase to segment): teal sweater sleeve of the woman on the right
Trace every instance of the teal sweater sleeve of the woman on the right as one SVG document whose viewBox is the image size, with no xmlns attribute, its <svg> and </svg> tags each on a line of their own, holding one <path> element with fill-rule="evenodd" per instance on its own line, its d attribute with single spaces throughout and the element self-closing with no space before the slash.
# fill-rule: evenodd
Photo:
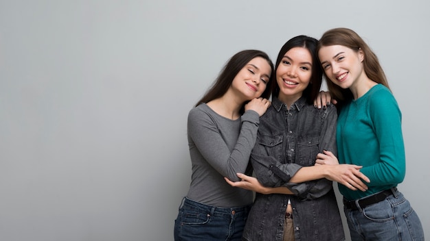
<svg viewBox="0 0 430 241">
<path fill-rule="evenodd" d="M 400 109 L 391 92 L 380 90 L 369 99 L 367 110 L 379 144 L 379 162 L 361 172 L 369 177 L 369 186 L 396 185 L 405 178 L 406 169 Z"/>
</svg>

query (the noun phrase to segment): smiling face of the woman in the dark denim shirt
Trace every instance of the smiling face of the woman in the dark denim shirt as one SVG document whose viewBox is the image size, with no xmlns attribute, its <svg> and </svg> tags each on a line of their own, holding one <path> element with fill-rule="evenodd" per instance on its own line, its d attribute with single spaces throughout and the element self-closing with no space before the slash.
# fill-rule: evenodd
<svg viewBox="0 0 430 241">
<path fill-rule="evenodd" d="M 291 103 L 302 97 L 312 76 L 312 65 L 312 56 L 303 47 L 294 47 L 284 54 L 276 70 L 280 101 Z"/>
</svg>

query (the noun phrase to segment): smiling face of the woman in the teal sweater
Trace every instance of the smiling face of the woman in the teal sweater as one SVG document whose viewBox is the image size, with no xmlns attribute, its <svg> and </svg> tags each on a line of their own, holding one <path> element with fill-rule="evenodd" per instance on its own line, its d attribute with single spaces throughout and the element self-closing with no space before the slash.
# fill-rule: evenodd
<svg viewBox="0 0 430 241">
<path fill-rule="evenodd" d="M 363 51 L 343 45 L 321 47 L 318 51 L 321 66 L 328 79 L 341 88 L 350 88 L 363 76 Z"/>
</svg>

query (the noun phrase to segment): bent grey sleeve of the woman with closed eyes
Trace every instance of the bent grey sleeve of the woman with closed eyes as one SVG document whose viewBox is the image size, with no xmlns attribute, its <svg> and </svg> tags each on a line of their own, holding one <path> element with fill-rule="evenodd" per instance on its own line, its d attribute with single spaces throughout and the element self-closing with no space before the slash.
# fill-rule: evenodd
<svg viewBox="0 0 430 241">
<path fill-rule="evenodd" d="M 188 115 L 188 135 L 203 158 L 220 175 L 231 181 L 239 181 L 236 173 L 245 173 L 247 170 L 249 155 L 256 143 L 259 119 L 260 116 L 253 110 L 241 116 L 240 129 L 234 130 L 240 133 L 234 148 L 230 150 L 214 118 L 194 108 Z"/>
</svg>

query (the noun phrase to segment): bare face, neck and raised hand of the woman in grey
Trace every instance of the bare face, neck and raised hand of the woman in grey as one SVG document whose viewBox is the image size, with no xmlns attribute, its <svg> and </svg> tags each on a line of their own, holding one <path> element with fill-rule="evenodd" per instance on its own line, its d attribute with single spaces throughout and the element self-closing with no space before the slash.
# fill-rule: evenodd
<svg viewBox="0 0 430 241">
<path fill-rule="evenodd" d="M 245 111 L 253 110 L 262 116 L 270 106 L 269 100 L 260 97 L 266 90 L 270 75 L 271 66 L 267 60 L 253 58 L 234 77 L 223 97 L 209 101 L 207 105 L 221 116 L 236 120 L 240 117 L 243 103 L 249 101 Z"/>
</svg>

